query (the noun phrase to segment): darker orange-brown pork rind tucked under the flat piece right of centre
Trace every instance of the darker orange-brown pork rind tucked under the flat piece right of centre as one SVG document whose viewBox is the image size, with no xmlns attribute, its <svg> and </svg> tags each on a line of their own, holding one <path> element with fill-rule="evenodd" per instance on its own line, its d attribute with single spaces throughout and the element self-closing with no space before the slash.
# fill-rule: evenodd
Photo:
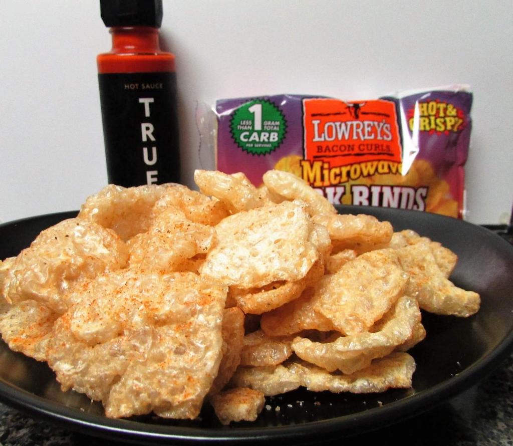
<svg viewBox="0 0 513 446">
<path fill-rule="evenodd" d="M 325 281 L 321 279 L 319 286 Z M 330 332 L 335 329 L 333 322 L 322 314 L 314 311 L 319 300 L 313 299 L 313 288 L 307 288 L 298 299 L 262 315 L 260 326 L 268 336 L 287 336 L 302 330 L 315 329 Z"/>
</svg>

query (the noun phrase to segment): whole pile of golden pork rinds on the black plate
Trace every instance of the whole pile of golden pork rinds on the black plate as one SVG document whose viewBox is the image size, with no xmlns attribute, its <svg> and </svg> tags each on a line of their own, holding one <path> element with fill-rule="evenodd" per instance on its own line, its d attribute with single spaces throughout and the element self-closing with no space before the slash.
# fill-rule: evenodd
<svg viewBox="0 0 513 446">
<path fill-rule="evenodd" d="M 270 170 L 109 185 L 0 262 L 0 332 L 108 417 L 254 420 L 265 396 L 410 387 L 420 308 L 469 316 L 457 257 Z"/>
</svg>

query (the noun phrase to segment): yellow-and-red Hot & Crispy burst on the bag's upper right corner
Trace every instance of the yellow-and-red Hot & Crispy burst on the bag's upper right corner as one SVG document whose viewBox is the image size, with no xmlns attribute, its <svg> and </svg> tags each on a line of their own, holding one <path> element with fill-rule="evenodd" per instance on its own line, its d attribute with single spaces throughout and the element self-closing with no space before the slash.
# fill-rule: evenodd
<svg viewBox="0 0 513 446">
<path fill-rule="evenodd" d="M 430 134 L 457 133 L 465 127 L 465 113 L 448 102 L 440 100 L 417 102 L 408 110 L 410 132 L 417 129 Z"/>
</svg>

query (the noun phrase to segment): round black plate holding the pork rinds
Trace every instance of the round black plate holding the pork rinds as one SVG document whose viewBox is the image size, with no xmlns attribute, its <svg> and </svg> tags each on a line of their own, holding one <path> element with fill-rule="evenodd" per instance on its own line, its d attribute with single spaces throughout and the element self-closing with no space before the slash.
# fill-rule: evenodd
<svg viewBox="0 0 513 446">
<path fill-rule="evenodd" d="M 201 419 L 105 418 L 102 405 L 84 395 L 63 393 L 45 363 L 13 353 L 0 341 L 0 398 L 18 409 L 88 434 L 117 440 L 303 442 L 376 429 L 419 414 L 467 389 L 513 350 L 513 246 L 487 229 L 417 211 L 345 206 L 343 213 L 367 213 L 411 228 L 455 251 L 459 263 L 451 279 L 481 294 L 479 313 L 468 319 L 423 314 L 427 338 L 410 353 L 417 362 L 413 387 L 383 394 L 351 395 L 298 390 L 268 398 L 253 423 L 222 426 L 208 405 Z M 14 256 L 42 229 L 73 217 L 63 212 L 0 225 L 0 258 Z M 279 408 L 279 409 L 278 409 Z"/>
</svg>

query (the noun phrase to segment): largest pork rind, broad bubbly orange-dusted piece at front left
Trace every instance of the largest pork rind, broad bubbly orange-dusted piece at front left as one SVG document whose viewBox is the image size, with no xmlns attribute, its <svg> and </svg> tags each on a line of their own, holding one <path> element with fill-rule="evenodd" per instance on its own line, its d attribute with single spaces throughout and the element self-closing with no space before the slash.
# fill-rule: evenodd
<svg viewBox="0 0 513 446">
<path fill-rule="evenodd" d="M 99 276 L 55 322 L 48 363 L 108 417 L 195 418 L 221 362 L 226 293 L 191 273 Z"/>
</svg>

